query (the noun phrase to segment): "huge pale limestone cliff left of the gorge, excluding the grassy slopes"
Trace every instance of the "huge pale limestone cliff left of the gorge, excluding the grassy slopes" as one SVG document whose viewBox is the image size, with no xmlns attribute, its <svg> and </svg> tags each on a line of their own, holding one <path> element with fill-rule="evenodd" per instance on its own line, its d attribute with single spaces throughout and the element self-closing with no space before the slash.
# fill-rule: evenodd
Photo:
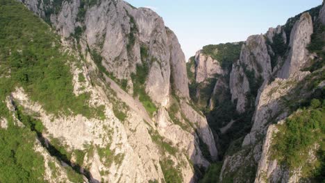
<svg viewBox="0 0 325 183">
<path fill-rule="evenodd" d="M 89 95 L 86 107 L 100 114 L 52 114 L 25 87 L 12 89 L 6 102 L 46 129 L 36 147 L 45 166 L 53 146 L 85 182 L 195 182 L 194 167 L 217 159 L 206 117 L 189 98 L 181 46 L 156 12 L 113 0 L 21 2 L 60 35 L 74 95 Z"/>
</svg>

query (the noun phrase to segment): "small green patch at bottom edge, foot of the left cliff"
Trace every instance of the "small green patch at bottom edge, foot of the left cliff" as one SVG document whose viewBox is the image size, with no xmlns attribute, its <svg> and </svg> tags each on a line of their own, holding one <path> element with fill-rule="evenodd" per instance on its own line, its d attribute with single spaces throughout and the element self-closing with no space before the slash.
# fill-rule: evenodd
<svg viewBox="0 0 325 183">
<path fill-rule="evenodd" d="M 163 171 L 166 183 L 181 183 L 183 178 L 181 177 L 181 171 L 174 168 L 174 162 L 171 159 L 165 159 L 160 161 L 160 167 Z"/>
</svg>

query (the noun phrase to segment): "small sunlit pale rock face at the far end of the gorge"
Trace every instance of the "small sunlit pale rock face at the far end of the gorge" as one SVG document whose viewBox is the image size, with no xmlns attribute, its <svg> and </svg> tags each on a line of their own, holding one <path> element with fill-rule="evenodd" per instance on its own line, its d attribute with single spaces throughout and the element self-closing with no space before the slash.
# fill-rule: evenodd
<svg viewBox="0 0 325 183">
<path fill-rule="evenodd" d="M 224 74 L 218 60 L 214 60 L 208 55 L 204 55 L 201 51 L 197 51 L 195 54 L 196 67 L 196 82 L 200 83 L 205 81 L 207 78 L 215 78 L 216 74 Z"/>
</svg>

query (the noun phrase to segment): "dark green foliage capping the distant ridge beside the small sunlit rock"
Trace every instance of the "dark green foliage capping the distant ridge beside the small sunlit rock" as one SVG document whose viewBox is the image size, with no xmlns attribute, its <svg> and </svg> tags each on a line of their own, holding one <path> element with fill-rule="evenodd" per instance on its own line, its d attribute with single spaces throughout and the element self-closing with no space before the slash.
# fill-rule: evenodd
<svg viewBox="0 0 325 183">
<path fill-rule="evenodd" d="M 234 61 L 240 58 L 242 43 L 226 43 L 226 44 L 210 44 L 203 46 L 202 53 L 210 55 L 213 59 L 218 60 L 222 64 L 222 68 L 229 69 Z"/>
</svg>

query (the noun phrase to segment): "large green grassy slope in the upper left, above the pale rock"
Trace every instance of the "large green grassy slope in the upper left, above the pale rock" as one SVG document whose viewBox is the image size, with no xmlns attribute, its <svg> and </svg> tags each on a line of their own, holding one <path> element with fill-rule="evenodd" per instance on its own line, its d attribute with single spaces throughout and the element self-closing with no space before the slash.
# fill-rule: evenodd
<svg viewBox="0 0 325 183">
<path fill-rule="evenodd" d="M 0 78 L 0 99 L 3 101 L 15 87 L 23 87 L 47 112 L 97 117 L 101 111 L 89 107 L 90 94 L 74 95 L 67 62 L 78 60 L 60 51 L 59 40 L 21 3 L 1 1 L 0 64 L 3 71 L 11 71 L 11 77 Z"/>
</svg>

